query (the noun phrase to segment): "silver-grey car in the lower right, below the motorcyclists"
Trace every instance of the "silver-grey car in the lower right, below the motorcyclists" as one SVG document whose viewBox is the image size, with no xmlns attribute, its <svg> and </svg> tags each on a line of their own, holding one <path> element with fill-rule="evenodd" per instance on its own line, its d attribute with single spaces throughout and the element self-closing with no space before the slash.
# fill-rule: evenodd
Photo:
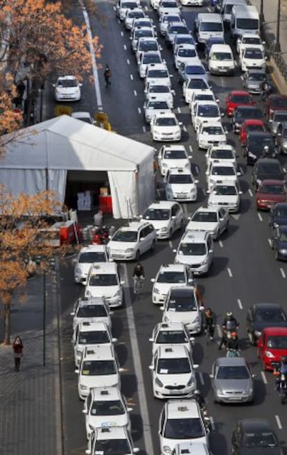
<svg viewBox="0 0 287 455">
<path fill-rule="evenodd" d="M 210 377 L 214 402 L 252 402 L 254 375 L 243 357 L 220 357 L 214 362 Z"/>
</svg>

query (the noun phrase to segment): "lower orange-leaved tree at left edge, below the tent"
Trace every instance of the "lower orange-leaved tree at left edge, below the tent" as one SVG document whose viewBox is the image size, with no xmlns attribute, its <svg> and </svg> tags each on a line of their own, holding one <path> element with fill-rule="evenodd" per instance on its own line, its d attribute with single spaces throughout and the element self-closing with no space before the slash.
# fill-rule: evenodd
<svg viewBox="0 0 287 455">
<path fill-rule="evenodd" d="M 33 196 L 15 197 L 0 185 L 0 300 L 3 303 L 4 343 L 10 343 L 10 309 L 12 298 L 24 297 L 31 273 L 46 273 L 51 269 L 55 247 L 47 241 L 46 219 L 62 211 L 52 191 Z M 43 235 L 43 232 L 45 233 Z M 57 248 L 60 258 L 67 246 Z M 36 258 L 40 264 L 36 266 Z"/>
</svg>

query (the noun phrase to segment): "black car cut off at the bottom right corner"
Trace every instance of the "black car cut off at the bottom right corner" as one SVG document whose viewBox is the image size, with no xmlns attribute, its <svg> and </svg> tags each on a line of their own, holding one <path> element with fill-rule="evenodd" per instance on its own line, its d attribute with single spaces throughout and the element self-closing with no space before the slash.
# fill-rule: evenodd
<svg viewBox="0 0 287 455">
<path fill-rule="evenodd" d="M 283 455 L 275 431 L 267 420 L 239 420 L 232 433 L 233 455 Z"/>
</svg>

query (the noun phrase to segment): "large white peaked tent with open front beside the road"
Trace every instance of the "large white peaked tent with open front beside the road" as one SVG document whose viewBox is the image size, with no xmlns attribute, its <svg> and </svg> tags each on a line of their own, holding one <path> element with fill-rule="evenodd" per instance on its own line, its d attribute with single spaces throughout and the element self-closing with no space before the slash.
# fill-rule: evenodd
<svg viewBox="0 0 287 455">
<path fill-rule="evenodd" d="M 67 171 L 107 171 L 114 217 L 128 218 L 130 209 L 138 215 L 154 199 L 153 157 L 146 144 L 62 115 L 8 142 L 0 182 L 14 195 L 48 188 L 64 202 Z"/>
</svg>

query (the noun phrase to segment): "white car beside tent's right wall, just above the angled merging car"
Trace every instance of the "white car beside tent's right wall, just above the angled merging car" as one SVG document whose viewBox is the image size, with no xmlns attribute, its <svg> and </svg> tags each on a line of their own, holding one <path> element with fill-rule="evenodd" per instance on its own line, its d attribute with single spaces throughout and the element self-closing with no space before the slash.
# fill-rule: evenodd
<svg viewBox="0 0 287 455">
<path fill-rule="evenodd" d="M 179 202 L 195 201 L 198 198 L 198 188 L 189 169 L 171 169 L 166 174 L 166 199 Z"/>
</svg>

